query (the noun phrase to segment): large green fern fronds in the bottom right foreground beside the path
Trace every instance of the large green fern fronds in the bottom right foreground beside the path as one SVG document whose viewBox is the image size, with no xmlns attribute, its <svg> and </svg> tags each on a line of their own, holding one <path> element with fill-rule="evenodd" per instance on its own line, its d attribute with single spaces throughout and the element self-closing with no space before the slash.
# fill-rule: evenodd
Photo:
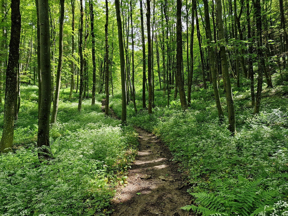
<svg viewBox="0 0 288 216">
<path fill-rule="evenodd" d="M 216 185 L 220 185 L 217 189 L 220 189 L 221 194 L 225 195 L 217 196 L 205 192 L 191 193 L 196 198 L 195 203 L 198 206 L 188 205 L 182 209 L 187 211 L 192 209 L 194 212 L 203 215 L 220 216 L 236 213 L 240 216 L 256 216 L 264 211 L 264 206 L 269 207 L 272 204 L 271 202 L 276 194 L 275 190 L 265 190 L 261 185 L 261 179 L 247 182 L 246 179 L 239 177 L 237 187 L 230 190 L 227 190 L 224 182 L 217 182 Z"/>
</svg>

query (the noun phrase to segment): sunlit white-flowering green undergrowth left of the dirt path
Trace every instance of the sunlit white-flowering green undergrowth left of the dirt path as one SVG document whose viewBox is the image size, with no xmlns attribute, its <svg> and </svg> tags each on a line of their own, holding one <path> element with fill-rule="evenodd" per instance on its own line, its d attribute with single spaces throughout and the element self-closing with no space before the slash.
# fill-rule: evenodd
<svg viewBox="0 0 288 216">
<path fill-rule="evenodd" d="M 137 134 L 104 117 L 104 94 L 77 111 L 61 90 L 57 122 L 50 128 L 53 160 L 37 157 L 37 87 L 21 86 L 13 150 L 0 158 L 0 215 L 110 215 L 114 186 L 126 182 Z M 75 96 L 76 97 L 76 96 Z M 3 110 L 2 116 L 3 119 Z M 3 125 L 3 122 L 2 122 Z"/>
</svg>

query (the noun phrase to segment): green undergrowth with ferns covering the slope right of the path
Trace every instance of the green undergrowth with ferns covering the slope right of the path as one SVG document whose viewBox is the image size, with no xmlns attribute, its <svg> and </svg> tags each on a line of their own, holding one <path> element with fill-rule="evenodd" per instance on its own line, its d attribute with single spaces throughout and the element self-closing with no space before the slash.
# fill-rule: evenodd
<svg viewBox="0 0 288 216">
<path fill-rule="evenodd" d="M 249 86 L 249 80 L 241 82 L 241 86 Z M 186 176 L 188 192 L 195 198 L 194 205 L 184 209 L 203 215 L 270 215 L 274 203 L 288 199 L 288 88 L 264 87 L 261 112 L 254 116 L 250 89 L 237 88 L 234 83 L 232 88 L 237 130 L 234 137 L 227 130 L 225 93 L 219 88 L 226 113 L 221 123 L 212 86 L 207 90 L 195 88 L 185 112 L 180 100 L 174 100 L 173 89 L 169 107 L 166 95 L 155 91 L 152 115 L 142 109 L 142 92 L 138 92 L 138 113 L 130 103 L 127 121 L 160 137 L 170 147 L 173 160 L 181 162 L 179 171 Z M 115 94 L 110 106 L 121 115 L 120 94 Z"/>
</svg>

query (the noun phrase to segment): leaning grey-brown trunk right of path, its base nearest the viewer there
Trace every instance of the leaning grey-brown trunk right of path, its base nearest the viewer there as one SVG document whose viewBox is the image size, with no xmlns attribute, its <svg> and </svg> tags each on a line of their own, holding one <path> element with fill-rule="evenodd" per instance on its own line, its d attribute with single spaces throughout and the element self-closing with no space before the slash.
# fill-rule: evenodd
<svg viewBox="0 0 288 216">
<path fill-rule="evenodd" d="M 228 70 L 228 60 L 226 54 L 225 37 L 224 37 L 224 26 L 223 26 L 223 18 L 222 18 L 222 3 L 221 0 L 216 0 L 217 7 L 217 22 L 218 22 L 218 31 L 219 31 L 219 40 L 220 42 L 220 54 L 221 54 L 221 64 L 222 64 L 222 73 L 223 73 L 223 81 L 225 83 L 225 93 L 226 93 L 226 101 L 228 107 L 228 130 L 232 133 L 232 135 L 236 134 L 236 125 L 235 125 L 235 110 L 234 110 L 234 100 L 232 95 L 232 88 Z"/>
</svg>

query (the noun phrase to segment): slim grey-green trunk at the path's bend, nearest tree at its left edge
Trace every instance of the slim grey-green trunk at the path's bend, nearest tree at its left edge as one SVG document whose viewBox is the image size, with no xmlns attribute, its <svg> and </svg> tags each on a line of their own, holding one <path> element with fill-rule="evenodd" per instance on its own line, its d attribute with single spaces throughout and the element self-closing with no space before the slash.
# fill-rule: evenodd
<svg viewBox="0 0 288 216">
<path fill-rule="evenodd" d="M 141 6 L 142 6 L 142 4 L 141 4 Z M 115 0 L 115 9 L 116 9 L 117 26 L 118 26 L 120 71 L 121 71 L 121 89 L 122 89 L 122 113 L 121 113 L 121 120 L 122 120 L 123 124 L 126 124 L 127 105 L 126 105 L 126 85 L 125 85 L 125 58 L 124 58 L 123 33 L 122 33 L 122 24 L 121 24 L 119 0 Z M 143 19 L 143 15 L 142 15 L 142 19 Z M 145 91 L 145 85 L 144 85 L 144 89 L 143 90 Z"/>
</svg>

